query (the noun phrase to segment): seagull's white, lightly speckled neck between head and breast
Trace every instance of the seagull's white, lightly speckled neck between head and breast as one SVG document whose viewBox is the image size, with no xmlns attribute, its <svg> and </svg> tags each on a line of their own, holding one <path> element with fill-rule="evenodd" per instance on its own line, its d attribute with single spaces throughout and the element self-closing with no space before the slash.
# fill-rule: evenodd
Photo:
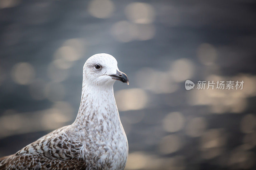
<svg viewBox="0 0 256 170">
<path fill-rule="evenodd" d="M 117 123 L 119 120 L 113 85 L 83 85 L 81 103 L 74 122 L 76 126 L 92 128 L 90 124 L 102 124 L 104 121 Z"/>
</svg>

